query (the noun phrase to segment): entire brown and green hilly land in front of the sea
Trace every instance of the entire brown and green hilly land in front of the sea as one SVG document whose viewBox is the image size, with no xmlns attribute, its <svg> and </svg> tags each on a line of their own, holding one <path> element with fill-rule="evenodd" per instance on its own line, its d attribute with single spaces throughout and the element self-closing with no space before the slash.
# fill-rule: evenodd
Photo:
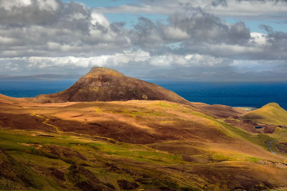
<svg viewBox="0 0 287 191">
<path fill-rule="evenodd" d="M 276 103 L 193 103 L 94 67 L 62 92 L 0 95 L 0 108 L 1 190 L 287 189 Z"/>
</svg>

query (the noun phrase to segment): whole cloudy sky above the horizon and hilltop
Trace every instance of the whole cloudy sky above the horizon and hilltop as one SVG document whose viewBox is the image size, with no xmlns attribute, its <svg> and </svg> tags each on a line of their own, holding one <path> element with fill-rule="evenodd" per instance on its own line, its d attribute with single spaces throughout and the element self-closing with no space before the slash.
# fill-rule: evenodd
<svg viewBox="0 0 287 191">
<path fill-rule="evenodd" d="M 0 75 L 281 78 L 286 52 L 286 0 L 0 0 Z"/>
</svg>

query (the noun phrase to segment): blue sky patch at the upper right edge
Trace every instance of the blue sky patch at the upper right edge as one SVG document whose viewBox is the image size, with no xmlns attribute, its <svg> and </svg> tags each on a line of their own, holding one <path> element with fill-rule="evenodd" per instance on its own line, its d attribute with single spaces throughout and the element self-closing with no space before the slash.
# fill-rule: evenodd
<svg viewBox="0 0 287 191">
<path fill-rule="evenodd" d="M 287 32 L 287 23 L 284 23 L 283 20 L 238 20 L 225 18 L 225 21 L 232 24 L 240 21 L 245 22 L 245 25 L 250 29 L 251 32 L 267 34 L 267 31 L 259 27 L 261 24 L 272 27 L 274 31 Z"/>
</svg>

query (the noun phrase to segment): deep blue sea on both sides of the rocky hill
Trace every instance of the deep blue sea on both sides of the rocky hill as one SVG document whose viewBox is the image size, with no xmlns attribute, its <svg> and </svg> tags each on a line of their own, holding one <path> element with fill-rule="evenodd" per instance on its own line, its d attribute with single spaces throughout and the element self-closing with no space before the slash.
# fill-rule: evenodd
<svg viewBox="0 0 287 191">
<path fill-rule="evenodd" d="M 262 107 L 276 102 L 287 110 L 287 82 L 167 82 L 147 80 L 176 92 L 192 102 L 232 107 Z M 35 97 L 69 88 L 75 80 L 0 81 L 0 93 L 11 97 Z"/>
</svg>

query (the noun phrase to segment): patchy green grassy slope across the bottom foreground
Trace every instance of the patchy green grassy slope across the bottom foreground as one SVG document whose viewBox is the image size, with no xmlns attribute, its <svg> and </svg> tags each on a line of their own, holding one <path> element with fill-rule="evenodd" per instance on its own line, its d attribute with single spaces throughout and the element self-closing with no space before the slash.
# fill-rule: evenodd
<svg viewBox="0 0 287 191">
<path fill-rule="evenodd" d="M 196 150 L 202 143 L 189 141 L 135 145 L 75 133 L 0 130 L 0 145 L 4 190 L 219 191 L 286 186 L 282 177 L 287 169 L 259 164 L 248 155 L 218 153 L 226 144 L 200 154 Z M 174 146 L 177 153 L 168 149 Z"/>
</svg>

